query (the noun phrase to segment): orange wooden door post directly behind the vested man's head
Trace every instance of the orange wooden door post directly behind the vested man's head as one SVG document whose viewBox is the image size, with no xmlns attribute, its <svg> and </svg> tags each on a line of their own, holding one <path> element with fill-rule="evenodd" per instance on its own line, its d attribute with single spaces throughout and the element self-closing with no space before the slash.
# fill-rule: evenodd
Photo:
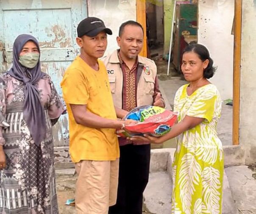
<svg viewBox="0 0 256 214">
<path fill-rule="evenodd" d="M 137 22 L 139 22 L 144 29 L 144 43 L 142 51 L 139 55 L 142 57 L 147 57 L 147 27 L 146 27 L 146 1 L 136 0 L 136 17 Z"/>
</svg>

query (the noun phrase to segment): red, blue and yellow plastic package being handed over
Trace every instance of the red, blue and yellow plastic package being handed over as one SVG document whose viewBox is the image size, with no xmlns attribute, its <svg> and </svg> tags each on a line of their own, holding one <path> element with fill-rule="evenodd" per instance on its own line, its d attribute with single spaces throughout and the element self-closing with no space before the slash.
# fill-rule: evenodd
<svg viewBox="0 0 256 214">
<path fill-rule="evenodd" d="M 139 121 L 136 124 L 125 125 L 125 130 L 117 130 L 117 135 L 131 137 L 133 135 L 143 135 L 145 133 L 160 137 L 171 130 L 178 114 L 158 106 L 139 106 L 131 110 L 126 119 Z"/>
</svg>

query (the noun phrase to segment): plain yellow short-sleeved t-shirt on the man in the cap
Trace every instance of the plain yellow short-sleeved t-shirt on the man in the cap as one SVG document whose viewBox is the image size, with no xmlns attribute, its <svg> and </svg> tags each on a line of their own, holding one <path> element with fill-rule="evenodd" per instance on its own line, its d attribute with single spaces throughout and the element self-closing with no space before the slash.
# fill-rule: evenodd
<svg viewBox="0 0 256 214">
<path fill-rule="evenodd" d="M 98 60 L 93 70 L 80 56 L 67 68 L 61 81 L 63 97 L 69 114 L 70 155 L 80 160 L 115 160 L 119 145 L 115 129 L 96 129 L 75 122 L 69 104 L 87 105 L 87 111 L 107 119 L 117 119 L 106 68 Z"/>
</svg>

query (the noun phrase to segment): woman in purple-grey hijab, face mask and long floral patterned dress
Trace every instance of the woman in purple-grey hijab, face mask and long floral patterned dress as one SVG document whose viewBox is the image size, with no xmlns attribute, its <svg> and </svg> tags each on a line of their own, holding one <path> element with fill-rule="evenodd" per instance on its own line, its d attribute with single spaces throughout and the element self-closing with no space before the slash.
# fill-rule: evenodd
<svg viewBox="0 0 256 214">
<path fill-rule="evenodd" d="M 32 35 L 19 35 L 0 76 L 0 213 L 58 214 L 52 125 L 65 109 L 41 71 Z"/>
</svg>

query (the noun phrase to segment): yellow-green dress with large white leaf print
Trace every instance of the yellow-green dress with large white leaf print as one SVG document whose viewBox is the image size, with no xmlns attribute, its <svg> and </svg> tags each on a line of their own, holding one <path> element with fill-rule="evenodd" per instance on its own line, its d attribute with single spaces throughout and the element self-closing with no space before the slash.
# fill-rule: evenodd
<svg viewBox="0 0 256 214">
<path fill-rule="evenodd" d="M 216 86 L 208 84 L 187 95 L 188 86 L 180 87 L 175 95 L 178 122 L 186 115 L 205 120 L 176 138 L 172 213 L 221 214 L 224 162 L 217 136 L 220 93 Z"/>
</svg>

